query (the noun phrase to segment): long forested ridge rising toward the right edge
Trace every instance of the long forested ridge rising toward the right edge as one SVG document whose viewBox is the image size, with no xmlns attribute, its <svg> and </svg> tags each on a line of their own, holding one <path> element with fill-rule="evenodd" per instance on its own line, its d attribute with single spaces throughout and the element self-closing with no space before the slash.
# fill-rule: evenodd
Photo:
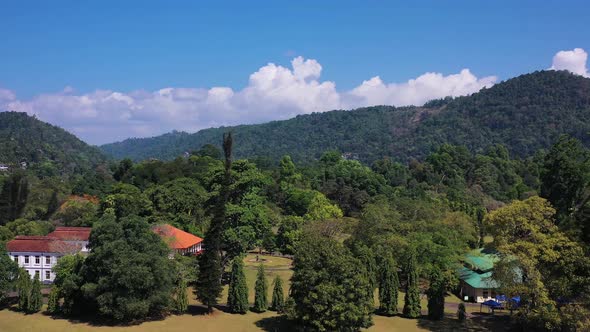
<svg viewBox="0 0 590 332">
<path fill-rule="evenodd" d="M 569 134 L 590 143 L 590 79 L 563 71 L 522 75 L 471 96 L 446 98 L 423 107 L 375 106 L 353 111 L 300 115 L 286 121 L 173 132 L 103 145 L 115 158 L 172 159 L 204 144 L 219 146 L 224 132 L 234 133 L 237 157 L 298 162 L 324 151 L 351 153 L 365 162 L 383 156 L 421 158 L 443 143 L 472 151 L 501 143 L 516 156 L 527 156 Z"/>
</svg>

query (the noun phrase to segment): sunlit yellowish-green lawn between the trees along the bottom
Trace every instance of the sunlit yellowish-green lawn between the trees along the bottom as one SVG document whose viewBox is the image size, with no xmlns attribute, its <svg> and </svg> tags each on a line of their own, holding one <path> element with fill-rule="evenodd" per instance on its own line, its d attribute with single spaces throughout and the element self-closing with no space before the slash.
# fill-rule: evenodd
<svg viewBox="0 0 590 332">
<path fill-rule="evenodd" d="M 291 277 L 291 261 L 286 258 L 260 256 L 264 259 L 262 262 L 256 262 L 256 255 L 248 255 L 245 259 L 245 272 L 248 285 L 250 288 L 250 301 L 254 302 L 254 282 L 256 279 L 256 270 L 258 264 L 262 263 L 266 267 L 266 275 L 269 285 L 276 275 L 280 275 L 285 281 L 285 294 L 288 291 L 288 280 Z M 270 288 L 270 287 L 269 287 Z M 24 315 L 12 309 L 0 310 L 0 331 L 109 331 L 109 332 L 134 332 L 134 331 L 290 331 L 290 326 L 276 315 L 274 312 L 262 314 L 247 313 L 245 315 L 234 315 L 216 310 L 212 315 L 206 315 L 204 308 L 198 303 L 192 291 L 190 294 L 189 313 L 184 315 L 171 315 L 166 319 L 159 321 L 144 322 L 132 326 L 105 326 L 92 321 L 69 320 L 65 318 L 52 318 L 42 313 L 33 315 Z M 270 295 L 270 294 L 269 294 Z M 403 293 L 400 293 L 400 304 L 403 305 Z M 227 286 L 224 289 L 220 299 L 221 307 L 227 299 Z M 447 303 L 459 303 L 459 299 L 453 295 L 447 297 Z M 423 312 L 426 313 L 426 299 L 422 300 Z M 401 307 L 400 307 L 401 311 Z M 454 318 L 456 310 L 447 309 L 447 318 L 441 322 L 431 322 L 427 319 L 405 319 L 401 317 L 382 317 L 373 316 L 374 325 L 367 331 L 385 332 L 385 331 L 489 331 L 501 330 L 497 320 L 490 320 L 489 315 L 475 316 L 468 321 L 468 325 L 460 325 Z M 469 312 L 475 311 L 475 307 L 468 307 Z"/>
</svg>

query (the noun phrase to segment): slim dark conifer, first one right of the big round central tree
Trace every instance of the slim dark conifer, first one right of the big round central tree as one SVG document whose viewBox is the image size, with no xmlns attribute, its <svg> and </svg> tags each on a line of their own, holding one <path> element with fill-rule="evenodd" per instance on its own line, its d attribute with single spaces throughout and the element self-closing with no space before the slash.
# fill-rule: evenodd
<svg viewBox="0 0 590 332">
<path fill-rule="evenodd" d="M 383 260 L 379 271 L 379 311 L 386 316 L 397 314 L 399 278 L 393 257 Z"/>
</svg>

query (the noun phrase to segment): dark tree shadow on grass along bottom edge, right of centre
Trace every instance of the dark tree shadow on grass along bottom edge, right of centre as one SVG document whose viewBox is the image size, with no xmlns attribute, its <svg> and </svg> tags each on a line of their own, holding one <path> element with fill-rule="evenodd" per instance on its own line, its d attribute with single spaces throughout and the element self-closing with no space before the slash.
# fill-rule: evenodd
<svg viewBox="0 0 590 332">
<path fill-rule="evenodd" d="M 442 320 L 429 320 L 425 316 L 418 319 L 418 327 L 430 331 L 510 331 L 510 318 L 507 316 L 474 315 L 460 322 L 455 315 L 445 314 Z"/>
</svg>

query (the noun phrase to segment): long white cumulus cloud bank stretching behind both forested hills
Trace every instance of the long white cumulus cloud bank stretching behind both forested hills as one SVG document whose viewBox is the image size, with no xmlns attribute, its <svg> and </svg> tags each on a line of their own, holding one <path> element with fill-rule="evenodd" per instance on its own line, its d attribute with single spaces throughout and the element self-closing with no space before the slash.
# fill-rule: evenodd
<svg viewBox="0 0 590 332">
<path fill-rule="evenodd" d="M 177 88 L 77 94 L 71 87 L 19 100 L 0 88 L 0 109 L 24 111 L 71 130 L 93 144 L 171 130 L 194 132 L 221 125 L 260 123 L 298 114 L 370 105 L 421 105 L 446 96 L 462 96 L 493 85 L 494 76 L 478 78 L 468 69 L 457 74 L 425 73 L 404 83 L 376 76 L 350 91 L 321 81 L 321 64 L 296 57 L 291 67 L 269 63 L 250 75 L 241 90 L 229 87 Z"/>
</svg>

